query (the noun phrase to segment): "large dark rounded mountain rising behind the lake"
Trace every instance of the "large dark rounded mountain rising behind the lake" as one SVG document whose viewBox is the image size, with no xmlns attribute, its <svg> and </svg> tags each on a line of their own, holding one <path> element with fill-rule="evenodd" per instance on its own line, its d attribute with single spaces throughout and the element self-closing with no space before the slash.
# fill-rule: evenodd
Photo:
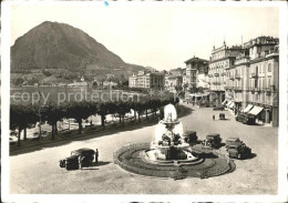
<svg viewBox="0 0 288 203">
<path fill-rule="evenodd" d="M 45 71 L 78 74 L 124 74 L 147 70 L 128 64 L 80 29 L 45 21 L 11 47 L 11 72 Z"/>
</svg>

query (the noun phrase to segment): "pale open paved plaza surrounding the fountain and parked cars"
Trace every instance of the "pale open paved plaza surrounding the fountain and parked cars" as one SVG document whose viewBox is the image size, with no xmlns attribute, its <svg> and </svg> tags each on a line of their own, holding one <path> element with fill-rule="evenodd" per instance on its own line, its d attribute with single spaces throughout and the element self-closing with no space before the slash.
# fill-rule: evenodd
<svg viewBox="0 0 288 203">
<path fill-rule="evenodd" d="M 182 103 L 183 104 L 183 103 Z M 278 129 L 245 125 L 224 111 L 227 120 L 218 120 L 220 111 L 194 108 L 181 118 L 184 128 L 197 132 L 198 139 L 217 132 L 223 141 L 239 136 L 254 153 L 251 159 L 236 160 L 236 171 L 209 179 L 187 177 L 174 181 L 140 176 L 123 171 L 113 163 L 113 152 L 127 143 L 150 142 L 155 126 L 123 131 L 65 145 L 44 148 L 10 156 L 10 193 L 23 194 L 277 194 Z M 213 114 L 216 120 L 213 121 Z M 83 170 L 66 171 L 59 160 L 72 150 L 100 150 L 100 164 Z M 223 150 L 223 149 L 222 149 Z"/>
</svg>

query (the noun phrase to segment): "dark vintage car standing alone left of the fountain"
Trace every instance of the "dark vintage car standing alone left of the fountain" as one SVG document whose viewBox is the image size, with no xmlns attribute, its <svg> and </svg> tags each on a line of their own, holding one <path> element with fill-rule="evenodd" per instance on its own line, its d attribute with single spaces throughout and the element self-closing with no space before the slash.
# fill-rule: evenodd
<svg viewBox="0 0 288 203">
<path fill-rule="evenodd" d="M 79 158 L 81 156 L 82 166 L 90 166 L 94 160 L 95 151 L 89 148 L 82 148 L 71 152 L 69 158 L 60 160 L 60 168 L 65 168 L 66 170 L 78 170 L 79 169 Z"/>
</svg>

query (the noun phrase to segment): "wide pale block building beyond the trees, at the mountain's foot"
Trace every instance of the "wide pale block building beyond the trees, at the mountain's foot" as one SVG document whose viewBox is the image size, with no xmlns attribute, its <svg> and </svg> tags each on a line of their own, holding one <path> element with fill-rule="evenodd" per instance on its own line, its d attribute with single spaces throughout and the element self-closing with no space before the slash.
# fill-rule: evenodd
<svg viewBox="0 0 288 203">
<path fill-rule="evenodd" d="M 138 71 L 137 75 L 128 77 L 130 88 L 157 88 L 164 89 L 165 79 L 162 72 Z"/>
</svg>

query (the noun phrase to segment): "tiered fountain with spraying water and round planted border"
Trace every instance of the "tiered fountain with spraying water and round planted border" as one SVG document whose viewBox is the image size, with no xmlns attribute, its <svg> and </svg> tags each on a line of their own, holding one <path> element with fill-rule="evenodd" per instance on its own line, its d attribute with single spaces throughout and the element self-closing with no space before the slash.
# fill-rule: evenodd
<svg viewBox="0 0 288 203">
<path fill-rule="evenodd" d="M 126 144 L 113 153 L 114 163 L 140 175 L 210 177 L 235 170 L 232 160 L 214 153 L 204 155 L 191 145 L 173 104 L 164 108 L 164 119 L 156 124 L 150 143 Z"/>
</svg>

